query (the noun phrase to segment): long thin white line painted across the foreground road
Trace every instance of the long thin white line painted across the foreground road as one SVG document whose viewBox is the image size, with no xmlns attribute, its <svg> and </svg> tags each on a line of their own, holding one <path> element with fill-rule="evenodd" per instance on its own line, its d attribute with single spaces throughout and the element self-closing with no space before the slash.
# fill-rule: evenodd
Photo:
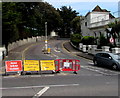
<svg viewBox="0 0 120 98">
<path fill-rule="evenodd" d="M 7 89 L 29 89 L 29 88 L 40 88 L 40 87 L 78 86 L 78 85 L 79 84 L 61 84 L 61 85 L 41 85 L 41 86 L 8 87 L 8 88 L 0 88 L 0 90 L 7 90 Z"/>
</svg>

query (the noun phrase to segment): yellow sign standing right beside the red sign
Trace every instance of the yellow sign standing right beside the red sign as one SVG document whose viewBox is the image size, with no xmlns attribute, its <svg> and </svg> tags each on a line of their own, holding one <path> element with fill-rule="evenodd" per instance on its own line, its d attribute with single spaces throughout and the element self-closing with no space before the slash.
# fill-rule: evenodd
<svg viewBox="0 0 120 98">
<path fill-rule="evenodd" d="M 39 71 L 39 60 L 24 60 L 24 71 Z"/>
</svg>

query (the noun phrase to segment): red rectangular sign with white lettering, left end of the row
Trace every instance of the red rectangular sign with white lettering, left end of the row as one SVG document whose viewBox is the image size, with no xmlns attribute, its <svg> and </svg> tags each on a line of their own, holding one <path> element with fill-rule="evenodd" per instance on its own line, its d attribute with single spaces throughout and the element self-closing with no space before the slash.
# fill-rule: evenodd
<svg viewBox="0 0 120 98">
<path fill-rule="evenodd" d="M 22 71 L 22 61 L 5 61 L 6 72 Z"/>
</svg>

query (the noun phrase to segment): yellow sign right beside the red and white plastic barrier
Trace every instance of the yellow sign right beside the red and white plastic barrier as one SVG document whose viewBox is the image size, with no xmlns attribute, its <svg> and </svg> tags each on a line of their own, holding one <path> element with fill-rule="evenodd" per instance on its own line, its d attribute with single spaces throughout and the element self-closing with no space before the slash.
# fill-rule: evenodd
<svg viewBox="0 0 120 98">
<path fill-rule="evenodd" d="M 55 70 L 54 60 L 40 60 L 41 71 Z"/>
</svg>

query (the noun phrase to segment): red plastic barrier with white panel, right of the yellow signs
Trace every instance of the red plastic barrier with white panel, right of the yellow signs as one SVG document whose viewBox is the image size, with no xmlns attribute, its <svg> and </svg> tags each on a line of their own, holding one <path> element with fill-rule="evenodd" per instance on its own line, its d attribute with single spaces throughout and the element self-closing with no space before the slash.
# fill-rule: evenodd
<svg viewBox="0 0 120 98">
<path fill-rule="evenodd" d="M 56 72 L 59 71 L 76 71 L 80 70 L 80 60 L 76 59 L 57 59 L 55 60 Z"/>
</svg>

